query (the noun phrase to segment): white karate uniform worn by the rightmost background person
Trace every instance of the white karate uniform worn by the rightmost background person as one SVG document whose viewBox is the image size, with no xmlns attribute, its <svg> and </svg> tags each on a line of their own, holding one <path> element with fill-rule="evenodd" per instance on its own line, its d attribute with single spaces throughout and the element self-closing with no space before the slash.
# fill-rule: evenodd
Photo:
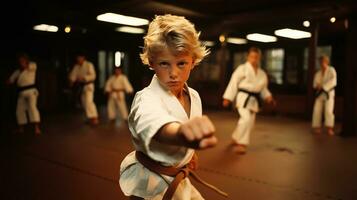
<svg viewBox="0 0 357 200">
<path fill-rule="evenodd" d="M 320 85 L 323 92 L 315 99 L 314 111 L 312 114 L 312 127 L 321 127 L 322 113 L 325 113 L 325 126 L 333 127 L 335 124 L 335 115 L 333 114 L 335 104 L 335 90 L 337 85 L 337 75 L 333 67 L 328 67 L 325 73 L 322 70 L 316 72 L 314 77 L 314 85 Z"/>
</svg>

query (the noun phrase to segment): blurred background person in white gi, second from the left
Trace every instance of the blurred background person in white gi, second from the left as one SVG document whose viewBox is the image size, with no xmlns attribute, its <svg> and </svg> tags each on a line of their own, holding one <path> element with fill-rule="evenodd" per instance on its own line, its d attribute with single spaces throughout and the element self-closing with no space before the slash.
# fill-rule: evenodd
<svg viewBox="0 0 357 200">
<path fill-rule="evenodd" d="M 97 107 L 94 104 L 94 81 L 96 73 L 91 62 L 86 60 L 84 54 L 78 54 L 77 63 L 69 74 L 70 84 L 80 88 L 80 98 L 87 118 L 93 125 L 98 124 Z"/>
</svg>

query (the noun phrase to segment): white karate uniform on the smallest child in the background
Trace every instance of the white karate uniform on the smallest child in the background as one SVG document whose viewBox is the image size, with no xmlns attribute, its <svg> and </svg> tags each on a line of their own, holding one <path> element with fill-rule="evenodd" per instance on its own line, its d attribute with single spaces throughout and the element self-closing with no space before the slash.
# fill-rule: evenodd
<svg viewBox="0 0 357 200">
<path fill-rule="evenodd" d="M 133 92 L 133 87 L 128 81 L 128 78 L 123 74 L 119 76 L 112 75 L 105 84 L 105 92 L 109 93 L 107 105 L 108 118 L 114 120 L 117 113 L 116 110 L 118 109 L 122 119 L 128 119 L 125 92 Z"/>
</svg>

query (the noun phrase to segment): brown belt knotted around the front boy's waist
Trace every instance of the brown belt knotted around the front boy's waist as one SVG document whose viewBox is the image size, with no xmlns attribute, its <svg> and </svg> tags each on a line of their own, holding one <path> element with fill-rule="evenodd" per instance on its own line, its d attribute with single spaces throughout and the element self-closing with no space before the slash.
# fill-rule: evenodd
<svg viewBox="0 0 357 200">
<path fill-rule="evenodd" d="M 171 200 L 178 185 L 180 184 L 180 182 L 185 179 L 186 177 L 190 176 L 192 178 L 194 178 L 197 182 L 207 186 L 208 188 L 211 188 L 212 190 L 214 190 L 215 192 L 217 192 L 218 194 L 224 196 L 224 197 L 228 197 L 228 194 L 219 190 L 218 188 L 216 188 L 215 186 L 207 183 L 206 181 L 202 180 L 195 172 L 194 170 L 197 169 L 197 155 L 194 154 L 194 156 L 192 157 L 191 161 L 185 165 L 182 168 L 175 168 L 175 167 L 166 167 L 166 166 L 162 166 L 160 163 L 158 163 L 157 161 L 151 159 L 149 156 L 147 156 L 146 154 L 140 152 L 140 151 L 136 151 L 135 152 L 135 156 L 136 159 L 146 168 L 148 168 L 150 171 L 158 174 L 159 176 L 162 177 L 162 175 L 166 175 L 166 176 L 171 176 L 171 177 L 175 177 L 174 180 L 171 182 L 171 184 L 169 185 L 169 187 L 167 188 L 163 200 Z"/>
</svg>

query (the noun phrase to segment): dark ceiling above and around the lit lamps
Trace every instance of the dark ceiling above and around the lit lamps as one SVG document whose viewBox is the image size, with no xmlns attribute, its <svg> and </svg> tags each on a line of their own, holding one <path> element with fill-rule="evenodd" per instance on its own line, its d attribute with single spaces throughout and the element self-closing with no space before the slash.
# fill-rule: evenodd
<svg viewBox="0 0 357 200">
<path fill-rule="evenodd" d="M 41 23 L 60 28 L 71 25 L 73 31 L 114 31 L 119 25 L 99 22 L 96 16 L 114 12 L 150 20 L 156 14 L 170 13 L 193 21 L 206 39 L 222 33 L 242 37 L 276 28 L 306 29 L 304 20 L 318 21 L 324 33 L 338 33 L 344 31 L 343 20 L 357 7 L 354 1 L 345 0 L 33 0 L 10 4 L 5 12 L 16 16 L 12 21 L 17 24 L 12 26 L 17 31 Z M 329 23 L 331 16 L 337 18 L 336 23 Z"/>
</svg>

